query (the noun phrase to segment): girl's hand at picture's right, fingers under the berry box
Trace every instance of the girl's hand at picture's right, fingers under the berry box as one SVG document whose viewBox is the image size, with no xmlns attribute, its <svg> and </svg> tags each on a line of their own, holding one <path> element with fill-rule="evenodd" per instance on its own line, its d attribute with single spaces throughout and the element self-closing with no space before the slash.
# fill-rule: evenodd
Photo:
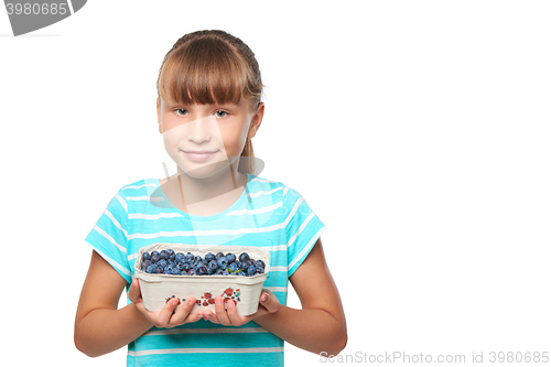
<svg viewBox="0 0 551 367">
<path fill-rule="evenodd" d="M 212 312 L 210 310 L 201 311 L 203 319 L 209 320 L 215 324 L 223 324 L 224 326 L 241 326 L 249 321 L 267 315 L 269 313 L 274 313 L 279 310 L 279 300 L 278 298 L 270 291 L 263 290 L 260 294 L 260 304 L 258 306 L 258 311 L 252 315 L 241 316 L 237 313 L 236 304 L 234 301 L 227 302 L 227 311 L 224 307 L 224 301 L 222 296 L 215 298 L 215 310 L 216 312 Z"/>
</svg>

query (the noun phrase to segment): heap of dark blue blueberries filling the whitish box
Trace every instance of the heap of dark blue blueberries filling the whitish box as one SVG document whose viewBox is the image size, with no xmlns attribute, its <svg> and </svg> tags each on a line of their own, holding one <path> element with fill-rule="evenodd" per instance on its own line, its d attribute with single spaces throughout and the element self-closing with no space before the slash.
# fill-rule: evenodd
<svg viewBox="0 0 551 367">
<path fill-rule="evenodd" d="M 262 260 L 251 259 L 247 252 L 239 258 L 235 253 L 208 252 L 203 259 L 191 252 L 174 252 L 173 249 L 143 252 L 140 269 L 150 274 L 171 276 L 241 276 L 255 277 L 264 272 Z"/>
</svg>

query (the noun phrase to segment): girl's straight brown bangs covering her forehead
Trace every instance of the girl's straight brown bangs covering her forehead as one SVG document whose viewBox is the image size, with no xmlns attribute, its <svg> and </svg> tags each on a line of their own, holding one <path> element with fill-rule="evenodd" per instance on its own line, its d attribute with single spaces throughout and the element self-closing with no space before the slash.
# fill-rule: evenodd
<svg viewBox="0 0 551 367">
<path fill-rule="evenodd" d="M 245 60 L 217 39 L 188 42 L 168 55 L 159 76 L 159 95 L 185 105 L 239 104 L 241 97 L 260 98 Z"/>
</svg>

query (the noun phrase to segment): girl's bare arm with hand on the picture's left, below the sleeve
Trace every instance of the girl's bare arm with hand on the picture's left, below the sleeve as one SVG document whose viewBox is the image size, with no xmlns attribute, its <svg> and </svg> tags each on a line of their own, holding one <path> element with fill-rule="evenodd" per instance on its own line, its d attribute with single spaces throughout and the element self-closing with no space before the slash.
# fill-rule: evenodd
<svg viewBox="0 0 551 367">
<path fill-rule="evenodd" d="M 127 281 L 117 270 L 93 251 L 75 317 L 75 345 L 78 350 L 97 357 L 129 344 L 153 325 L 173 327 L 201 319 L 198 314 L 187 317 L 193 307 L 187 304 L 172 314 L 176 302 L 168 302 L 163 310 L 155 313 L 147 311 L 137 282 L 132 283 L 129 292 L 129 298 L 137 302 L 117 310 L 126 285 Z"/>
</svg>

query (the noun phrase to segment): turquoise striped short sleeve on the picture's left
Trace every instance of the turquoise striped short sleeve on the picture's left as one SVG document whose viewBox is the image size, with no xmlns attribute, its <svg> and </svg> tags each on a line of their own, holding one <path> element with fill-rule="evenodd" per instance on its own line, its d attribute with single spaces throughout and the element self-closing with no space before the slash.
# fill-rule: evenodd
<svg viewBox="0 0 551 367">
<path fill-rule="evenodd" d="M 85 241 L 96 250 L 128 282 L 132 272 L 128 263 L 128 205 L 119 192 L 111 198 L 104 214 L 94 225 Z"/>
</svg>

